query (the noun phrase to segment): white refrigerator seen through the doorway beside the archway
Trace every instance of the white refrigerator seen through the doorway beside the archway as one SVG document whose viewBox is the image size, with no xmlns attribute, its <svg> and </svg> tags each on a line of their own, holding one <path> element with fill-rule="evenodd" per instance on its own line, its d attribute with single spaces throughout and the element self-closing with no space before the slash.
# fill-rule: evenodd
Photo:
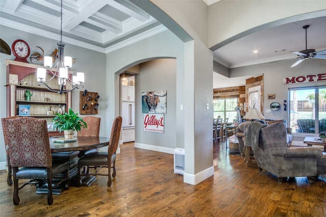
<svg viewBox="0 0 326 217">
<path fill-rule="evenodd" d="M 134 141 L 134 103 L 122 102 L 122 142 Z"/>
</svg>

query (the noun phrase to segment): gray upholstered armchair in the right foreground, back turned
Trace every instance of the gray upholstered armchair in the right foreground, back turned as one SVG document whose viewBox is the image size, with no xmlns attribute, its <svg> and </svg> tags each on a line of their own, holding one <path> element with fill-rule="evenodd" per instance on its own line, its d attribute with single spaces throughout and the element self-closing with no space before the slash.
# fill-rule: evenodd
<svg viewBox="0 0 326 217">
<path fill-rule="evenodd" d="M 326 153 L 319 147 L 287 147 L 282 122 L 263 127 L 257 149 L 253 149 L 259 170 L 273 173 L 283 182 L 287 177 L 308 177 L 312 182 L 326 173 Z"/>
</svg>

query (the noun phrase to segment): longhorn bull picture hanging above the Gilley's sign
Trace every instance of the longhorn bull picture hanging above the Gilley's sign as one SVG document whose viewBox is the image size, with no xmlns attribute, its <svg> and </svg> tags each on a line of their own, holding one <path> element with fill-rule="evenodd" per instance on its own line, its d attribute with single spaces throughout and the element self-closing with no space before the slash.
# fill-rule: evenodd
<svg viewBox="0 0 326 217">
<path fill-rule="evenodd" d="M 167 90 L 143 92 L 143 113 L 167 113 Z"/>
</svg>

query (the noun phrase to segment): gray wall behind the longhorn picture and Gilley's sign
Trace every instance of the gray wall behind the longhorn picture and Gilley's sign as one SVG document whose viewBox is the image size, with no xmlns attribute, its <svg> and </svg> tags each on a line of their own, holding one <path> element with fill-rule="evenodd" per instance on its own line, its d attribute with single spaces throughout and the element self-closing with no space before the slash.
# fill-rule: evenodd
<svg viewBox="0 0 326 217">
<path fill-rule="evenodd" d="M 176 59 L 156 59 L 140 65 L 135 76 L 135 142 L 166 148 L 176 148 Z M 164 114 L 164 133 L 144 131 L 142 92 L 167 90 L 167 113 Z M 181 145 L 181 144 L 180 144 Z"/>
</svg>

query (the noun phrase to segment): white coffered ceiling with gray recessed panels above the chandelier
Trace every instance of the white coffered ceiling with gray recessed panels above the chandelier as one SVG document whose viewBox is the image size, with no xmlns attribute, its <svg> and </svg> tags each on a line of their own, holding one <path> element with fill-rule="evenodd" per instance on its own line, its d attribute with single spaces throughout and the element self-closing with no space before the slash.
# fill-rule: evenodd
<svg viewBox="0 0 326 217">
<path fill-rule="evenodd" d="M 60 0 L 1 0 L 1 24 L 60 41 Z M 63 0 L 63 42 L 100 52 L 166 30 L 129 1 Z"/>
</svg>

